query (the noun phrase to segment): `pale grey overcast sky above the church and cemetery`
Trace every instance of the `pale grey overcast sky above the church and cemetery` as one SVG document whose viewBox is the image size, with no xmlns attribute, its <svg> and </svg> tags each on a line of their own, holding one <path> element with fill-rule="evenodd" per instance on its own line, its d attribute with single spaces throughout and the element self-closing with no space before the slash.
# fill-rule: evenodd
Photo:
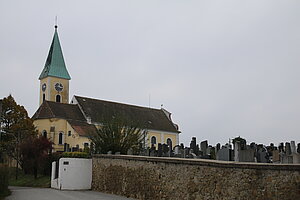
<svg viewBox="0 0 300 200">
<path fill-rule="evenodd" d="M 300 142 L 299 0 L 0 0 L 0 98 L 30 116 L 56 15 L 70 98 L 163 104 L 186 145 Z"/>
</svg>

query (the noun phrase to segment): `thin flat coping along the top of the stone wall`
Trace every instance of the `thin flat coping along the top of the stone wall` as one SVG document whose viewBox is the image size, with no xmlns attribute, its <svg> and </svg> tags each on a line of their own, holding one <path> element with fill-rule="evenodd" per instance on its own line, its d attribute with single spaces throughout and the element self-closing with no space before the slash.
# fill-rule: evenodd
<svg viewBox="0 0 300 200">
<path fill-rule="evenodd" d="M 188 159 L 188 158 L 108 155 L 108 154 L 94 154 L 92 157 L 105 158 L 105 159 L 146 161 L 146 162 L 156 162 L 156 163 L 161 162 L 161 163 L 172 163 L 172 164 L 187 164 L 187 165 L 198 165 L 198 166 L 220 167 L 220 168 L 285 170 L 285 171 L 300 172 L 300 164 L 251 163 L 251 162 L 234 162 L 234 161 L 220 161 L 220 160 L 209 160 L 209 159 Z"/>
</svg>

